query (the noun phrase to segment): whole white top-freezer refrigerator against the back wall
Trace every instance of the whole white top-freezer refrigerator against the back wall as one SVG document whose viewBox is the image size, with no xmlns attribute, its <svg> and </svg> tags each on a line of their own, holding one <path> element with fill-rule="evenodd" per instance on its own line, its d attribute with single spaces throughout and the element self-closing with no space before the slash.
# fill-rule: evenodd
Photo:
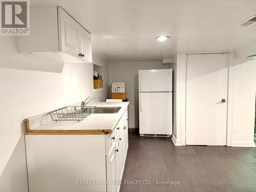
<svg viewBox="0 0 256 192">
<path fill-rule="evenodd" d="M 173 70 L 139 70 L 140 136 L 173 134 Z"/>
</svg>

